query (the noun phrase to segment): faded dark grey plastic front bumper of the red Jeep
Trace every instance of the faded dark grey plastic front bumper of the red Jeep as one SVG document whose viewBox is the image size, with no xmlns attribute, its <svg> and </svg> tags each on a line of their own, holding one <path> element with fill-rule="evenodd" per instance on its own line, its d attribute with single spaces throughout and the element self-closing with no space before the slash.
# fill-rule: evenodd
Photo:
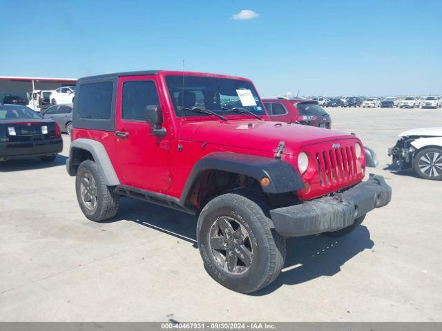
<svg viewBox="0 0 442 331">
<path fill-rule="evenodd" d="M 270 210 L 276 232 L 285 237 L 337 231 L 354 223 L 374 208 L 390 203 L 392 188 L 382 176 L 370 174 L 367 181 L 331 197 Z"/>
</svg>

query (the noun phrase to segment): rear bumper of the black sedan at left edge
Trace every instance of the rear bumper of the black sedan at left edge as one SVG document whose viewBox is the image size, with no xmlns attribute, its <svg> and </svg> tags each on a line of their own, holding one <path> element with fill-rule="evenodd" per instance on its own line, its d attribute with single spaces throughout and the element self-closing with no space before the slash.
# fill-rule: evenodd
<svg viewBox="0 0 442 331">
<path fill-rule="evenodd" d="M 43 141 L 17 141 L 0 143 L 0 161 L 26 159 L 28 157 L 46 157 L 63 150 L 63 139 Z"/>
</svg>

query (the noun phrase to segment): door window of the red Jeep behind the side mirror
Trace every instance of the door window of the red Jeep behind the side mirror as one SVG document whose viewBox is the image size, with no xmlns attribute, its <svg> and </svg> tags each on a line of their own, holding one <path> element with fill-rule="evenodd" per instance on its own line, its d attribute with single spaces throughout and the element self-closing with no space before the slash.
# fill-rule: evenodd
<svg viewBox="0 0 442 331">
<path fill-rule="evenodd" d="M 157 88 L 153 81 L 123 83 L 122 119 L 144 121 L 146 107 L 159 104 Z"/>
</svg>

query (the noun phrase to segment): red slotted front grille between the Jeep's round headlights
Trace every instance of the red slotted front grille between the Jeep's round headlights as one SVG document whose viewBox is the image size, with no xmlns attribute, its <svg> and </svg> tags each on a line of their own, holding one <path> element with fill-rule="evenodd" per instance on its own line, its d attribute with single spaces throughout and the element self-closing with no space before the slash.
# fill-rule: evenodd
<svg viewBox="0 0 442 331">
<path fill-rule="evenodd" d="M 319 183 L 324 188 L 351 182 L 357 174 L 356 154 L 353 146 L 316 152 Z"/>
</svg>

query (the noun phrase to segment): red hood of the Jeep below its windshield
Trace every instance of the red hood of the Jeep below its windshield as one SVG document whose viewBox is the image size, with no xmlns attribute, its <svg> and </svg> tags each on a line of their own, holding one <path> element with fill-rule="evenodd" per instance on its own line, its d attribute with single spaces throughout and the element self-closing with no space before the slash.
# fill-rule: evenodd
<svg viewBox="0 0 442 331">
<path fill-rule="evenodd" d="M 187 121 L 180 128 L 180 140 L 273 153 L 278 143 L 284 141 L 285 154 L 297 153 L 301 147 L 313 143 L 340 139 L 356 137 L 312 126 L 258 120 Z"/>
</svg>

